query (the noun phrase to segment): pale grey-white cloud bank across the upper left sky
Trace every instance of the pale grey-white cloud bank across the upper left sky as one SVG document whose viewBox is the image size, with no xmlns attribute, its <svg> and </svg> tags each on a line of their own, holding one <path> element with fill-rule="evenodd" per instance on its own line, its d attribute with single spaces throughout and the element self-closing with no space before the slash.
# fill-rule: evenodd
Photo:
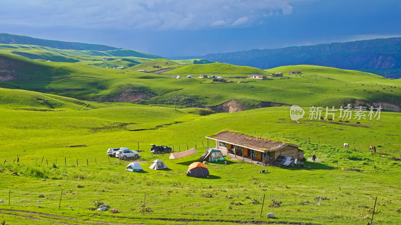
<svg viewBox="0 0 401 225">
<path fill-rule="evenodd" d="M 2 0 L 0 25 L 204 29 L 255 25 L 292 13 L 294 0 Z"/>
</svg>

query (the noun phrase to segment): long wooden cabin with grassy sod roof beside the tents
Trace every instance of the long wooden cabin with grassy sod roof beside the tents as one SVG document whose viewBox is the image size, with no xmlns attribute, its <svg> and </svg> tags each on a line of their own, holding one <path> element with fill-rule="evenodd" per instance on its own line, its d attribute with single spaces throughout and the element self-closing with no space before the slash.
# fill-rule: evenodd
<svg viewBox="0 0 401 225">
<path fill-rule="evenodd" d="M 298 145 L 278 142 L 271 139 L 250 136 L 244 133 L 223 131 L 213 136 L 206 136 L 209 140 L 216 142 L 216 148 L 223 154 L 234 154 L 235 157 L 242 157 L 243 160 L 259 161 L 262 164 L 273 164 L 279 155 L 304 158 L 303 151 Z"/>
</svg>

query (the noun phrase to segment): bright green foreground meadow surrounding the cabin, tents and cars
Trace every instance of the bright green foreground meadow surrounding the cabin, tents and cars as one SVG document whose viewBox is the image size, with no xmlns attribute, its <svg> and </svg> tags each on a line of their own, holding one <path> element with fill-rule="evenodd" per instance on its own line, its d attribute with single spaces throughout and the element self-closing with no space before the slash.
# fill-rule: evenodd
<svg viewBox="0 0 401 225">
<path fill-rule="evenodd" d="M 23 99 L 25 94 L 16 96 Z M 0 145 L 7 149 L 0 157 L 0 199 L 6 202 L 0 204 L 0 210 L 7 214 L 1 214 L 0 219 L 11 224 L 29 222 L 17 217 L 24 215 L 46 220 L 42 222 L 82 224 L 362 224 L 370 221 L 375 196 L 375 223 L 393 224 L 399 219 L 396 211 L 401 206 L 401 163 L 389 160 L 392 154 L 400 153 L 399 113 L 382 112 L 379 120 L 362 119 L 364 126 L 351 126 L 307 118 L 297 123 L 289 118 L 289 107 L 210 114 L 199 108 L 174 110 L 154 105 L 96 103 L 93 109 L 69 109 L 60 104 L 53 111 L 41 111 L 38 109 L 48 107 L 37 105 L 36 101 L 35 97 L 26 97 L 24 102 L 36 110 L 16 110 L 18 102 L 0 102 Z M 207 178 L 187 177 L 187 166 L 206 150 L 205 136 L 227 129 L 252 131 L 252 135 L 299 144 L 306 158 L 316 153 L 318 161 L 305 162 L 310 167 L 303 168 L 269 166 L 269 173 L 260 173 L 265 167 L 228 158 L 227 164 L 209 163 L 211 175 Z M 343 142 L 350 143 L 351 149 L 341 148 Z M 109 163 L 107 148 L 125 146 L 136 150 L 138 143 L 144 172 L 125 171 L 128 162 L 114 158 Z M 176 151 L 196 144 L 199 153 L 171 160 L 168 154 L 151 155 L 150 143 L 174 146 Z M 66 147 L 79 144 L 86 147 Z M 388 155 L 371 154 L 370 144 L 380 145 L 378 152 Z M 352 150 L 354 146 L 357 151 Z M 13 163 L 17 154 L 20 162 Z M 148 169 L 155 159 L 162 159 L 169 169 Z M 47 180 L 42 181 L 43 178 Z M 12 190 L 10 206 L 8 190 Z M 37 200 L 41 193 L 48 203 Z M 142 215 L 145 193 L 145 205 L 152 211 Z M 266 199 L 260 217 L 263 194 Z M 281 201 L 280 207 L 269 207 L 272 199 Z M 94 215 L 92 201 L 96 200 L 121 212 L 96 211 Z M 274 212 L 277 218 L 267 219 L 267 212 Z"/>
</svg>

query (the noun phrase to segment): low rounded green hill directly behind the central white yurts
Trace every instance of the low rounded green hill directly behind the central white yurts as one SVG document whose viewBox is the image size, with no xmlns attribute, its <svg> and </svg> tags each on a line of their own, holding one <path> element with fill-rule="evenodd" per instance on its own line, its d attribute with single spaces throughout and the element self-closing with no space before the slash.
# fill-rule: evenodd
<svg viewBox="0 0 401 225">
<path fill-rule="evenodd" d="M 201 74 L 201 73 L 222 73 L 222 74 L 268 74 L 267 71 L 259 68 L 254 68 L 251 66 L 239 66 L 239 65 L 232 65 L 227 63 L 208 63 L 208 64 L 190 64 L 186 65 L 181 68 L 176 68 L 167 72 L 165 74 Z"/>
</svg>

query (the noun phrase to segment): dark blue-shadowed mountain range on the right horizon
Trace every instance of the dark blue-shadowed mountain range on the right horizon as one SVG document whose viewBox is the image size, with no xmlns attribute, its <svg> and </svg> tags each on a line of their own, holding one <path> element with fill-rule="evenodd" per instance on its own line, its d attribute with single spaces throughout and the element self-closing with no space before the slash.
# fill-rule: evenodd
<svg viewBox="0 0 401 225">
<path fill-rule="evenodd" d="M 213 53 L 203 58 L 262 69 L 282 65 L 322 65 L 400 78 L 401 37 Z"/>
</svg>

